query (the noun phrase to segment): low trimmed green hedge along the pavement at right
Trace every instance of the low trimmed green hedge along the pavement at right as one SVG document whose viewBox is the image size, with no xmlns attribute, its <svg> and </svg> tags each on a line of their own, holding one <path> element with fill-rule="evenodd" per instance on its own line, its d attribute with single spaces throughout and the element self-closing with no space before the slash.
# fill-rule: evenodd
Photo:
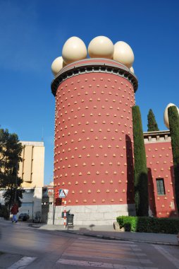
<svg viewBox="0 0 179 269">
<path fill-rule="evenodd" d="M 179 219 L 121 216 L 117 217 L 117 222 L 125 231 L 161 234 L 178 234 L 179 231 Z"/>
</svg>

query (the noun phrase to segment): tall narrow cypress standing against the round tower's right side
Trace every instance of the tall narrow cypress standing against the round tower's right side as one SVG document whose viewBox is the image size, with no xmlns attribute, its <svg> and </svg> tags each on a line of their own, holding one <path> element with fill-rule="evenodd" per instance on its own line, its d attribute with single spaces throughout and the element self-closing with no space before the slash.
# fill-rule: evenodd
<svg viewBox="0 0 179 269">
<path fill-rule="evenodd" d="M 149 215 L 149 195 L 147 161 L 144 148 L 144 135 L 140 108 L 132 107 L 133 137 L 134 137 L 134 185 L 135 185 L 135 209 L 137 216 Z"/>
</svg>

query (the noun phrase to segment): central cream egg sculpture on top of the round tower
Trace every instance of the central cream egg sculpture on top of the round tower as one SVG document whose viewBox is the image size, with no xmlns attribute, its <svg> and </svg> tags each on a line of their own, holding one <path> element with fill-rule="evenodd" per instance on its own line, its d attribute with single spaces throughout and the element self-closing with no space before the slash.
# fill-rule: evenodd
<svg viewBox="0 0 179 269">
<path fill-rule="evenodd" d="M 113 59 L 113 42 L 106 36 L 97 36 L 90 42 L 88 53 L 91 58 Z"/>
</svg>

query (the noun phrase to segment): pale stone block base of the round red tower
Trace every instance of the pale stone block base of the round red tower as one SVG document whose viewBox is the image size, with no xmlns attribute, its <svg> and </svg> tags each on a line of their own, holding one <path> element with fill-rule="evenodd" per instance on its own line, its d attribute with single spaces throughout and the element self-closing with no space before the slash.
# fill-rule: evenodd
<svg viewBox="0 0 179 269">
<path fill-rule="evenodd" d="M 54 224 L 63 225 L 64 207 L 55 208 Z M 67 205 L 66 211 L 74 214 L 74 225 L 113 225 L 118 216 L 135 216 L 135 205 Z M 53 207 L 49 207 L 47 224 L 53 224 Z"/>
</svg>

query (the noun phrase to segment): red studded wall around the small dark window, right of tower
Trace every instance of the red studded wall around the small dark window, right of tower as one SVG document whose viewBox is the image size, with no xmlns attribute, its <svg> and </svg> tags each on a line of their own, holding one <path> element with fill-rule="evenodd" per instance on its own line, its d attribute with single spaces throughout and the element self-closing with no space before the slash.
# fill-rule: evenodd
<svg viewBox="0 0 179 269">
<path fill-rule="evenodd" d="M 174 198 L 173 156 L 171 142 L 145 144 L 149 169 L 149 205 L 157 217 L 178 215 Z M 158 195 L 156 178 L 163 178 L 166 195 Z M 174 208 L 173 208 L 174 205 Z"/>
</svg>

